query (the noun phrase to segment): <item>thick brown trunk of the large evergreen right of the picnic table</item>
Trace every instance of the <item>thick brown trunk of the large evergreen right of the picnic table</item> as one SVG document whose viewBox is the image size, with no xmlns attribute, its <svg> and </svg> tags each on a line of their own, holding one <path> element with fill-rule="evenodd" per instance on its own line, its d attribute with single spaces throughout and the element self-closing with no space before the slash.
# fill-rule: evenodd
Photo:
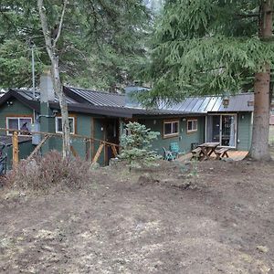
<svg viewBox="0 0 274 274">
<path fill-rule="evenodd" d="M 259 37 L 268 40 L 272 37 L 273 0 L 261 1 Z M 269 161 L 269 106 L 270 106 L 270 68 L 266 63 L 262 71 L 255 74 L 254 117 L 252 142 L 249 155 L 255 160 Z"/>
</svg>

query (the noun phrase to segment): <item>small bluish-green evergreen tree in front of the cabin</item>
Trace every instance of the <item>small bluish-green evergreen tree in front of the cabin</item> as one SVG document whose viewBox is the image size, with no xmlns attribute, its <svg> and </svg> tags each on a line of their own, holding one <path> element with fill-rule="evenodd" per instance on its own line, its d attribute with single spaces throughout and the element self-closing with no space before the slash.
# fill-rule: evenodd
<svg viewBox="0 0 274 274">
<path fill-rule="evenodd" d="M 121 136 L 122 151 L 120 159 L 128 162 L 132 167 L 151 166 L 161 156 L 152 150 L 152 142 L 157 139 L 160 132 L 151 132 L 145 125 L 138 122 L 129 122 L 126 126 L 128 134 Z"/>
</svg>

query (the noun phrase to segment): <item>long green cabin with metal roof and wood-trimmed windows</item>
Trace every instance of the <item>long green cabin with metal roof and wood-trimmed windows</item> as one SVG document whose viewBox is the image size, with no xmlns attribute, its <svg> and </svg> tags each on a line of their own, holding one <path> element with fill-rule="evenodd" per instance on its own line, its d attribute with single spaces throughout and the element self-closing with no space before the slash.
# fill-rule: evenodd
<svg viewBox="0 0 274 274">
<path fill-rule="evenodd" d="M 189 153 L 197 144 L 220 142 L 221 146 L 248 151 L 251 143 L 253 94 L 242 93 L 224 100 L 220 96 L 191 97 L 171 107 L 146 110 L 133 101 L 131 87 L 126 94 L 64 87 L 68 103 L 71 149 L 87 160 L 93 159 L 100 140 L 120 143 L 125 124 L 138 121 L 160 132 L 153 149 L 163 154 L 177 142 L 180 152 Z M 12 160 L 12 132 L 18 131 L 61 133 L 58 99 L 54 95 L 50 75 L 41 77 L 39 92 L 11 89 L 0 98 L 0 142 L 5 143 L 8 168 Z M 19 157 L 26 158 L 41 142 L 39 134 L 19 134 Z M 87 138 L 96 141 L 87 142 Z M 41 147 L 41 153 L 61 151 L 61 138 L 51 137 Z M 106 165 L 113 157 L 110 146 L 105 146 L 98 162 Z"/>
</svg>

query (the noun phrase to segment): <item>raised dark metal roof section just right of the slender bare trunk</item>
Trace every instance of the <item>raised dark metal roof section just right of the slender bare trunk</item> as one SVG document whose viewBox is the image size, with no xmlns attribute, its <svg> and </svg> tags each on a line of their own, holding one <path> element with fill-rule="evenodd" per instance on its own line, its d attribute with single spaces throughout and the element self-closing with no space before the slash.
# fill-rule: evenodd
<svg viewBox="0 0 274 274">
<path fill-rule="evenodd" d="M 74 97 L 79 102 L 89 102 L 94 106 L 123 107 L 125 96 L 117 93 L 109 93 L 95 90 L 84 90 L 79 88 L 64 87 L 65 93 Z M 72 94 L 73 93 L 73 94 Z M 75 97 L 76 96 L 76 97 Z"/>
</svg>

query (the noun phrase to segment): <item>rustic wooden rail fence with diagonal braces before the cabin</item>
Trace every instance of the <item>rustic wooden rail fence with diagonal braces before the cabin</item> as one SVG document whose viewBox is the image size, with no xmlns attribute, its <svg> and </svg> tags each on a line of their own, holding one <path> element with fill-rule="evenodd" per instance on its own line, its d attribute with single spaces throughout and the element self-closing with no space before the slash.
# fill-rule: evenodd
<svg viewBox="0 0 274 274">
<path fill-rule="evenodd" d="M 11 130 L 11 129 L 5 129 L 5 128 L 0 128 L 0 132 L 11 132 L 12 133 L 13 167 L 15 167 L 19 163 L 19 140 L 18 140 L 19 134 L 24 134 L 24 136 L 29 136 L 29 137 L 31 137 L 34 134 L 38 134 L 38 135 L 43 136 L 42 140 L 37 144 L 34 151 L 28 155 L 26 160 L 29 160 L 32 157 L 34 157 L 40 151 L 43 144 L 45 142 L 47 142 L 47 140 L 49 140 L 49 138 L 52 138 L 52 137 L 62 138 L 61 133 L 53 133 L 53 132 L 26 132 L 26 131 L 22 131 L 22 130 L 18 131 L 18 130 Z M 100 140 L 100 139 L 96 139 L 96 138 L 93 138 L 93 137 L 90 137 L 90 136 L 79 135 L 79 134 L 71 134 L 70 138 L 71 139 L 78 138 L 78 139 L 84 140 L 84 142 L 90 144 L 90 149 L 91 150 L 92 150 L 92 144 L 94 142 L 99 142 L 100 143 L 99 148 L 98 148 L 98 150 L 95 153 L 93 158 L 92 158 L 92 152 L 90 153 L 91 154 L 91 163 L 97 163 L 98 162 L 100 154 L 103 151 L 103 148 L 105 146 L 111 147 L 111 151 L 112 151 L 112 153 L 114 154 L 115 157 L 117 157 L 117 155 L 118 155 L 117 148 L 119 148 L 120 145 L 117 144 L 117 143 L 107 142 L 105 140 Z M 70 145 L 70 152 L 75 157 L 79 156 L 77 151 L 74 149 L 74 147 L 72 145 Z"/>
</svg>

